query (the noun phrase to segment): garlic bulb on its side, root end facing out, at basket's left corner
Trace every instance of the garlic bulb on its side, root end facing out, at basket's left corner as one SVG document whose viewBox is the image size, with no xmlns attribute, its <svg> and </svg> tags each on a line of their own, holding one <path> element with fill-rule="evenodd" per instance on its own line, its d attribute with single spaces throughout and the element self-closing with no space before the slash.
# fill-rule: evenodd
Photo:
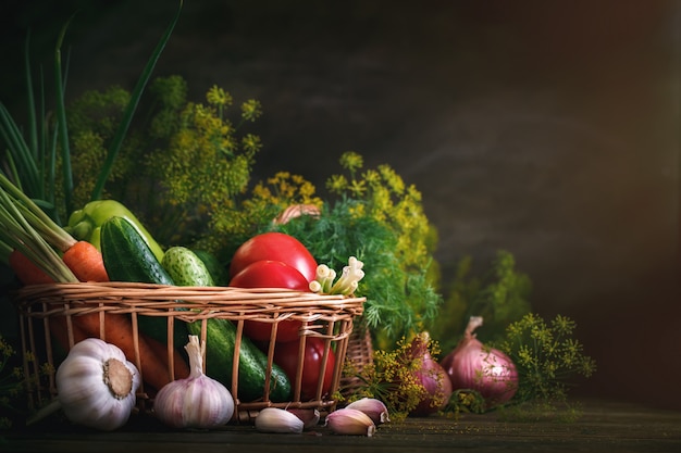
<svg viewBox="0 0 681 453">
<path fill-rule="evenodd" d="M 119 347 L 87 338 L 69 351 L 57 369 L 55 383 L 66 418 L 110 431 L 127 423 L 140 378 Z"/>
</svg>

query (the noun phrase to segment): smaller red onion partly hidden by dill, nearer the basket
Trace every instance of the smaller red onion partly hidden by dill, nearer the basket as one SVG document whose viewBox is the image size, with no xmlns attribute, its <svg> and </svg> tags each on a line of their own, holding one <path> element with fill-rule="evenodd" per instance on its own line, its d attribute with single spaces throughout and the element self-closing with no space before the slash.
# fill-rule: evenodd
<svg viewBox="0 0 681 453">
<path fill-rule="evenodd" d="M 421 332 L 411 342 L 409 354 L 421 360 L 421 368 L 414 376 L 425 389 L 428 397 L 409 415 L 422 417 L 443 408 L 451 397 L 451 381 L 445 369 L 435 361 L 429 351 L 430 335 Z"/>
</svg>

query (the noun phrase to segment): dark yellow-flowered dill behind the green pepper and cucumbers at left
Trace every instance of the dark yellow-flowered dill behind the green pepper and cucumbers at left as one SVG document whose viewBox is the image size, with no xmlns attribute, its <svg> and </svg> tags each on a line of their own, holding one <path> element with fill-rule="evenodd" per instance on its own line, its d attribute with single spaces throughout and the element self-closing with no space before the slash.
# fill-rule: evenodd
<svg viewBox="0 0 681 453">
<path fill-rule="evenodd" d="M 208 90 L 206 103 L 190 102 L 179 76 L 158 77 L 148 91 L 144 121 L 128 130 L 104 193 L 135 212 L 160 243 L 216 252 L 243 217 L 237 200 L 262 144 L 242 128 L 257 121 L 261 105 L 250 99 L 232 115 L 233 98 L 218 86 Z M 131 96 L 113 86 L 88 91 L 70 105 L 78 205 L 89 201 L 106 143 L 113 140 Z"/>
</svg>

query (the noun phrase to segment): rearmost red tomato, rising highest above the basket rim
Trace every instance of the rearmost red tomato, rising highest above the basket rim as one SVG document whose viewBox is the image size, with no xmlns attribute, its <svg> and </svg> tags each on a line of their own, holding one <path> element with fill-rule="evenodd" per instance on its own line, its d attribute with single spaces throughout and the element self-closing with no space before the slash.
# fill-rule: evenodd
<svg viewBox="0 0 681 453">
<path fill-rule="evenodd" d="M 317 276 L 317 261 L 310 251 L 293 236 L 276 231 L 263 232 L 244 242 L 234 252 L 230 275 L 234 277 L 249 264 L 264 260 L 286 263 L 298 269 L 308 281 Z"/>
</svg>

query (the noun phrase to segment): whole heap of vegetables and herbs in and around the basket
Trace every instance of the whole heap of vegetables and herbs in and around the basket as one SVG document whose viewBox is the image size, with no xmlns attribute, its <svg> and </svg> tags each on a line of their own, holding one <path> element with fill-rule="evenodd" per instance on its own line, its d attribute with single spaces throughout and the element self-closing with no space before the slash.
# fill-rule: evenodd
<svg viewBox="0 0 681 453">
<path fill-rule="evenodd" d="M 213 86 L 205 103 L 190 102 L 181 77 L 151 79 L 181 10 L 182 2 L 132 92 L 111 87 L 66 105 L 64 29 L 54 55 L 57 112 L 39 117 L 26 56 L 28 127 L 0 105 L 0 260 L 20 285 L 128 281 L 363 297 L 356 325 L 371 334 L 374 363 L 361 372 L 363 387 L 343 401 L 346 407 L 326 416 L 324 426 L 337 435 L 373 436 L 388 412 L 398 418 L 482 412 L 537 397 L 553 402 L 565 399 L 565 375 L 593 373 L 593 360 L 570 338 L 570 319 L 547 326 L 530 313 L 529 279 L 515 272 L 509 253 L 499 253 L 498 281 L 486 287 L 466 281 L 463 260 L 445 303 L 437 231 L 421 193 L 389 165 L 364 168 L 360 154 L 343 153 L 342 173 L 326 179 L 324 199 L 287 172 L 251 185 L 262 143 L 244 128 L 261 115 L 260 103 L 247 100 L 230 118 L 234 100 L 224 89 Z M 140 103 L 147 88 L 149 102 Z M 40 87 L 40 105 L 45 92 Z M 148 111 L 133 122 L 138 105 Z M 482 316 L 485 344 L 473 332 Z M 450 334 L 469 318 L 462 338 Z M 61 406 L 73 423 L 116 429 L 143 379 L 163 423 L 210 429 L 234 417 L 237 400 L 262 399 L 263 389 L 275 402 L 339 398 L 331 394 L 337 351 L 299 320 L 245 319 L 243 332 L 221 318 L 208 318 L 205 332 L 201 323 L 175 323 L 170 354 L 165 319 L 135 320 L 137 337 L 126 314 L 108 313 L 104 331 L 99 314 L 73 316 L 76 345 L 69 351 L 66 319 L 50 319 L 49 335 L 69 351 L 50 408 Z M 451 349 L 442 361 L 429 331 Z M 237 348 L 238 394 L 232 395 Z M 139 369 L 129 362 L 136 354 Z M 74 363 L 87 373 L 76 376 Z M 196 400 L 202 403 L 186 404 Z M 317 411 L 268 407 L 256 428 L 301 432 L 319 421 Z"/>
</svg>

